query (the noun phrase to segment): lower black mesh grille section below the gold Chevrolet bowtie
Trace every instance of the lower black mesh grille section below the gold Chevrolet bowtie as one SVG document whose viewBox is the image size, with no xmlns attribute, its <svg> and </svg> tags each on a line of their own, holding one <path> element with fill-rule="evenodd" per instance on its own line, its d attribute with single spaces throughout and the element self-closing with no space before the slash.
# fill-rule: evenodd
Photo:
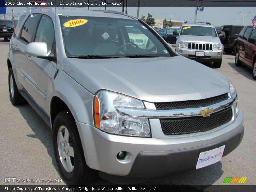
<svg viewBox="0 0 256 192">
<path fill-rule="evenodd" d="M 213 113 L 209 117 L 160 119 L 160 123 L 165 135 L 180 135 L 209 131 L 228 123 L 231 121 L 232 116 L 232 108 L 229 107 Z"/>
</svg>

